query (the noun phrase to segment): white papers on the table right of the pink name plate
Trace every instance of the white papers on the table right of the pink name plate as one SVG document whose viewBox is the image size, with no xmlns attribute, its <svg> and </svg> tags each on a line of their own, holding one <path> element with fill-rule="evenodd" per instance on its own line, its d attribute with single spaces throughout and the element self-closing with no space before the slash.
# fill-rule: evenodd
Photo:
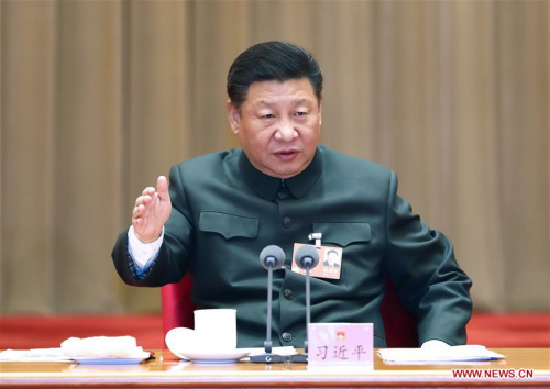
<svg viewBox="0 0 550 389">
<path fill-rule="evenodd" d="M 494 360 L 505 357 L 480 345 L 441 348 L 383 348 L 378 351 L 378 355 L 385 363 L 389 364 L 460 363 Z"/>
</svg>

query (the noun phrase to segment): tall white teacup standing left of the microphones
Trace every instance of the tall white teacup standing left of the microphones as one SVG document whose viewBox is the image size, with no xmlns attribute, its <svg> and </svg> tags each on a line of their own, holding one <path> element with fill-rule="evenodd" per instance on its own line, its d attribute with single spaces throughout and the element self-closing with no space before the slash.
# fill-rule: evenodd
<svg viewBox="0 0 550 389">
<path fill-rule="evenodd" d="M 195 333 L 205 351 L 237 348 L 237 310 L 200 309 L 195 311 Z"/>
</svg>

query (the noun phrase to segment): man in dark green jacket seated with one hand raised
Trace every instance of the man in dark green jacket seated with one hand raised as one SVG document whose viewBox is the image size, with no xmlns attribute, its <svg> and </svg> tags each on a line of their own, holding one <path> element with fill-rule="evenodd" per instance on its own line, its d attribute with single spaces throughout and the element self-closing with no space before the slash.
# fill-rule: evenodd
<svg viewBox="0 0 550 389">
<path fill-rule="evenodd" d="M 452 244 L 397 196 L 396 175 L 319 145 L 322 74 L 305 49 L 280 43 L 243 52 L 228 75 L 231 129 L 242 148 L 176 165 L 136 199 L 112 258 L 129 285 L 163 286 L 188 271 L 198 308 L 235 308 L 240 347 L 265 340 L 266 273 L 258 254 L 286 254 L 274 271 L 274 345 L 301 347 L 305 277 L 296 243 L 341 249 L 338 278 L 311 280 L 311 322 L 374 323 L 389 275 L 418 322 L 420 344 L 464 344 L 472 285 Z M 322 266 L 322 259 L 321 259 Z M 429 343 L 426 343 L 428 342 Z M 443 343 L 441 343 L 443 342 Z"/>
</svg>

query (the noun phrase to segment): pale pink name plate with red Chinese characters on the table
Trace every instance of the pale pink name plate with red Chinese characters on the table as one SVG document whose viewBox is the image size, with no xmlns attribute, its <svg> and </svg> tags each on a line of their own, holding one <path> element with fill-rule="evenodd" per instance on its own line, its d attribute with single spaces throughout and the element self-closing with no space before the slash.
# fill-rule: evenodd
<svg viewBox="0 0 550 389">
<path fill-rule="evenodd" d="M 309 367 L 373 369 L 372 323 L 322 323 L 308 325 Z"/>
</svg>

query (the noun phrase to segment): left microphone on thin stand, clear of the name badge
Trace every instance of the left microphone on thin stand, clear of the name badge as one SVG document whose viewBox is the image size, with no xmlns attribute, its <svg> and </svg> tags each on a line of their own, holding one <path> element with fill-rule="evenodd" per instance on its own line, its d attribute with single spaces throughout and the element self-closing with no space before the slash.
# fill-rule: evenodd
<svg viewBox="0 0 550 389">
<path fill-rule="evenodd" d="M 267 270 L 267 322 L 266 336 L 264 342 L 265 354 L 251 355 L 251 362 L 272 363 L 284 362 L 279 355 L 273 355 L 272 343 L 272 294 L 273 294 L 273 270 L 279 269 L 285 264 L 285 252 L 279 246 L 271 245 L 260 253 L 260 264 Z"/>
</svg>

